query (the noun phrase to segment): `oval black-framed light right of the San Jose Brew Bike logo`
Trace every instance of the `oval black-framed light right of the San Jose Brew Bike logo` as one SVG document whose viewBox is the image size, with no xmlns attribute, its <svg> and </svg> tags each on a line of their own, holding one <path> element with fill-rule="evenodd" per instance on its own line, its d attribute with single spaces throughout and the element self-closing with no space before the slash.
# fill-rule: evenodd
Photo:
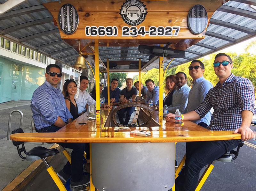
<svg viewBox="0 0 256 191">
<path fill-rule="evenodd" d="M 193 6 L 188 13 L 188 28 L 193 34 L 200 34 L 207 26 L 208 16 L 202 5 Z"/>
</svg>

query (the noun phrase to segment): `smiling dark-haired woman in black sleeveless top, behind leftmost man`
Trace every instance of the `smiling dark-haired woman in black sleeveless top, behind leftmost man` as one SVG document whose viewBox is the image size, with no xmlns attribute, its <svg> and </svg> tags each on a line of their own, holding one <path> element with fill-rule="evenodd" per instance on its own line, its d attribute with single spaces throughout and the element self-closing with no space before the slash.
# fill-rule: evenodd
<svg viewBox="0 0 256 191">
<path fill-rule="evenodd" d="M 66 82 L 63 85 L 63 95 L 65 98 L 66 106 L 68 110 L 70 111 L 71 115 L 73 116 L 73 120 L 79 117 L 77 114 L 77 104 L 75 100 L 76 95 L 76 82 L 73 79 L 66 80 Z"/>
</svg>

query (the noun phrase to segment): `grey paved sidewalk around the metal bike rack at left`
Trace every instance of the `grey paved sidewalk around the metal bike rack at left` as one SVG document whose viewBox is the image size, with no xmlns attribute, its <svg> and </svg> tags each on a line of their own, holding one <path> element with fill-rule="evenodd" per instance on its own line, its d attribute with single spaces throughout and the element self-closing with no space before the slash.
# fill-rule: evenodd
<svg viewBox="0 0 256 191">
<path fill-rule="evenodd" d="M 29 100 L 10 101 L 0 104 L 0 190 L 2 190 L 9 182 L 24 171 L 32 162 L 23 160 L 19 157 L 17 148 L 12 141 L 6 141 L 9 114 L 11 111 L 18 109 L 23 113 L 24 132 L 30 132 L 32 112 Z M 20 127 L 20 114 L 15 112 L 12 114 L 11 131 Z M 25 143 L 26 150 L 41 146 L 42 143 Z M 52 144 L 45 144 L 44 147 L 49 148 Z"/>
</svg>

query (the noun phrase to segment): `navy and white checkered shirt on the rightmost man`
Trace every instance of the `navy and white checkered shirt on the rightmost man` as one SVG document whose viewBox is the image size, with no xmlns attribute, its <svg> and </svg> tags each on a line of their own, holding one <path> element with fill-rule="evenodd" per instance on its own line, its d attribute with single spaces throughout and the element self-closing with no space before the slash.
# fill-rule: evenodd
<svg viewBox="0 0 256 191">
<path fill-rule="evenodd" d="M 254 88 L 252 82 L 244 77 L 231 74 L 220 87 L 220 82 L 209 90 L 204 101 L 194 111 L 200 116 L 213 107 L 213 120 L 210 130 L 236 130 L 241 126 L 243 110 L 254 114 Z"/>
</svg>

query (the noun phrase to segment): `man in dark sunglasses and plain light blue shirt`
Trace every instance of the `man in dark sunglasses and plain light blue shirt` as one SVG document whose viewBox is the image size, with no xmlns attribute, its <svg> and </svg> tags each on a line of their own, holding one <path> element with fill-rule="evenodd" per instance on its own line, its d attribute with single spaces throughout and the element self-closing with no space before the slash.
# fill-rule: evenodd
<svg viewBox="0 0 256 191">
<path fill-rule="evenodd" d="M 188 105 L 183 113 L 188 113 L 196 107 L 198 107 L 203 101 L 208 93 L 208 91 L 213 88 L 213 85 L 210 81 L 204 79 L 204 63 L 200 60 L 193 60 L 188 67 L 189 75 L 193 79 L 193 86 L 188 93 Z M 194 123 L 202 126 L 208 127 L 211 120 L 211 112 L 209 111 L 204 115 L 203 118 L 193 121 Z"/>
</svg>

